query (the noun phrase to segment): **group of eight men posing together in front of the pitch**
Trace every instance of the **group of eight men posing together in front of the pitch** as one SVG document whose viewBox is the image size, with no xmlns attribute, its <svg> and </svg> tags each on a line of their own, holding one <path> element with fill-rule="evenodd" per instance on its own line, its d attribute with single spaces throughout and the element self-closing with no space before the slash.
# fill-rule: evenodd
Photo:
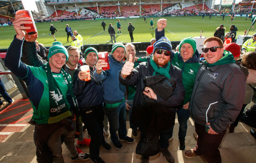
<svg viewBox="0 0 256 163">
<path fill-rule="evenodd" d="M 24 20 L 30 18 L 22 15 L 15 15 L 13 25 L 17 34 L 7 51 L 5 64 L 28 86 L 39 163 L 63 160 L 61 140 L 73 160 L 90 157 L 94 163 L 104 163 L 99 156 L 100 146 L 111 150 L 103 136 L 104 112 L 115 148 L 123 148 L 122 141 L 133 143 L 134 139 L 127 136 L 125 86 L 136 86 L 130 121 L 135 126 L 133 131 L 137 131 L 137 127 L 141 131 L 136 153 L 142 155 L 142 163 L 148 163 L 149 156 L 159 151 L 168 163 L 175 162 L 168 151 L 168 141 L 172 138 L 176 112 L 180 124 L 179 149 L 185 150 L 189 115 L 195 121 L 198 135 L 196 147 L 187 150 L 185 156 L 202 155 L 209 163 L 221 163 L 218 146 L 241 110 L 246 81 L 233 55 L 223 50 L 221 39 L 210 37 L 204 41 L 205 62 L 200 64 L 192 38 L 183 39 L 179 52 L 172 52 L 171 42 L 164 37 L 167 22 L 160 19 L 155 29 L 153 52 L 136 66 L 132 44 L 115 43 L 108 55 L 110 69 L 105 71 L 108 63 L 98 58 L 96 49 L 88 47 L 84 58 L 90 66 L 91 79 L 85 81 L 88 74 L 81 72 L 79 49 L 74 46 L 66 49 L 60 42 L 54 42 L 49 49 L 49 61 L 44 65 L 26 65 L 20 61 L 23 42 L 32 42 L 33 46 L 37 38 L 37 35 L 25 34 L 24 30 L 30 27 L 20 25 L 28 24 L 29 21 Z M 32 46 L 26 48 L 31 55 L 36 48 Z M 127 60 L 123 62 L 125 55 Z M 91 134 L 89 156 L 78 154 L 75 148 L 73 113 L 76 119 L 81 114 Z"/>
</svg>

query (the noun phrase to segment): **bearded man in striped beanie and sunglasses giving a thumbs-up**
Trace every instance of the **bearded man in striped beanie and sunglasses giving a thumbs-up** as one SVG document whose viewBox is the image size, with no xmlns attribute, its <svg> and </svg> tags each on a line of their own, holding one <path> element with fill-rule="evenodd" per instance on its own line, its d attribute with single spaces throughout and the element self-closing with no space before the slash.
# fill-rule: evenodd
<svg viewBox="0 0 256 163">
<path fill-rule="evenodd" d="M 155 42 L 153 54 L 151 58 L 148 57 L 147 62 L 142 62 L 135 68 L 131 59 L 126 62 L 119 73 L 119 81 L 123 85 L 137 85 L 131 121 L 141 130 L 140 142 L 136 147 L 136 153 L 142 155 L 141 162 L 148 163 L 149 156 L 154 156 L 161 151 L 168 163 L 174 163 L 174 157 L 168 151 L 169 137 L 167 133 L 175 124 L 175 113 L 182 105 L 185 96 L 182 72 L 170 63 L 172 45 L 166 37 Z M 145 87 L 143 82 L 145 77 L 159 78 L 158 75 L 166 77 L 166 80 L 174 78 L 176 81 L 173 94 L 166 99 L 156 94 L 153 89 Z M 169 90 L 173 86 L 160 87 L 161 90 Z M 143 150 L 145 148 L 143 141 L 147 141 L 149 146 L 152 145 L 150 150 Z"/>
</svg>

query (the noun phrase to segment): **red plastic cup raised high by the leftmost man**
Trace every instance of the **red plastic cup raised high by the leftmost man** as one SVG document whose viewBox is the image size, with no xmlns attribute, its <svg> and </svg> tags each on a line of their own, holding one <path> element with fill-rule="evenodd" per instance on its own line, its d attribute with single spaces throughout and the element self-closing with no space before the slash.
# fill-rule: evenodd
<svg viewBox="0 0 256 163">
<path fill-rule="evenodd" d="M 16 14 L 18 14 L 18 13 L 25 13 L 25 15 L 23 15 L 22 17 L 29 17 L 29 18 L 31 18 L 31 20 L 27 20 L 27 21 L 31 21 L 32 24 L 23 24 L 23 26 L 31 27 L 30 29 L 26 29 L 27 34 L 29 34 L 29 35 L 37 34 L 37 29 L 36 29 L 36 26 L 35 26 L 35 23 L 34 23 L 34 18 L 32 16 L 32 13 L 30 11 L 28 11 L 28 10 L 18 10 L 16 12 Z"/>
</svg>

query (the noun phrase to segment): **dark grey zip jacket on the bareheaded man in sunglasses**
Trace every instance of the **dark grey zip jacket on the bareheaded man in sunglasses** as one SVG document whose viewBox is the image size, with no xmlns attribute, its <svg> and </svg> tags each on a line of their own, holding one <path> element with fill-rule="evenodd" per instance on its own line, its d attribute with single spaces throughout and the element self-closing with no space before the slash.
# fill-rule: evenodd
<svg viewBox="0 0 256 163">
<path fill-rule="evenodd" d="M 201 65 L 190 98 L 190 116 L 203 126 L 209 122 L 217 133 L 227 130 L 242 108 L 245 82 L 244 73 L 235 63 L 208 68 Z"/>
</svg>

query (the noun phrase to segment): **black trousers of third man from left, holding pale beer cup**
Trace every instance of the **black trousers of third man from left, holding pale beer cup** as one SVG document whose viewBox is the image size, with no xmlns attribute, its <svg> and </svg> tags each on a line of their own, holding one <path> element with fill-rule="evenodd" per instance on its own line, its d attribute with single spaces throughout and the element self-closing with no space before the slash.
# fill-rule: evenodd
<svg viewBox="0 0 256 163">
<path fill-rule="evenodd" d="M 104 112 L 102 105 L 92 107 L 87 110 L 82 110 L 82 120 L 86 124 L 88 131 L 91 134 L 91 143 L 89 146 L 90 158 L 97 159 L 100 155 L 100 147 L 105 143 L 103 136 L 103 119 Z"/>
</svg>

